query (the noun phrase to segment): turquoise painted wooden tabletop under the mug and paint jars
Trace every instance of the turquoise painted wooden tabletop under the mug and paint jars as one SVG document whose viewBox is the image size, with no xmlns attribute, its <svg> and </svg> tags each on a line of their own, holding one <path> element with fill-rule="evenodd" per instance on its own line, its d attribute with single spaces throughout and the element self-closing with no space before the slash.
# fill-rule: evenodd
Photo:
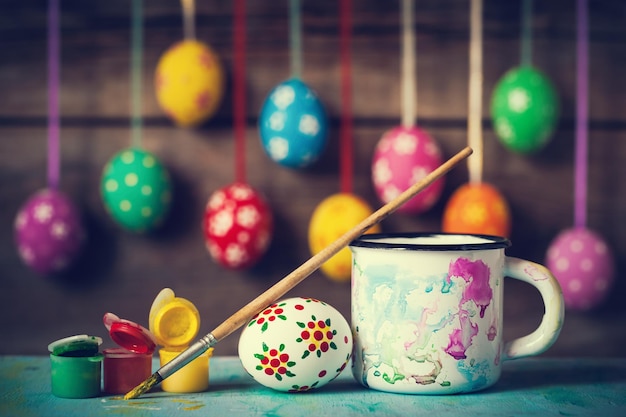
<svg viewBox="0 0 626 417">
<path fill-rule="evenodd" d="M 157 369 L 157 363 L 154 363 Z M 0 416 L 626 416 L 626 359 L 521 359 L 492 388 L 465 395 L 410 396 L 365 389 L 349 370 L 308 393 L 257 384 L 236 357 L 213 357 L 209 390 L 154 390 L 139 399 L 62 399 L 50 392 L 46 356 L 0 357 Z"/>
</svg>

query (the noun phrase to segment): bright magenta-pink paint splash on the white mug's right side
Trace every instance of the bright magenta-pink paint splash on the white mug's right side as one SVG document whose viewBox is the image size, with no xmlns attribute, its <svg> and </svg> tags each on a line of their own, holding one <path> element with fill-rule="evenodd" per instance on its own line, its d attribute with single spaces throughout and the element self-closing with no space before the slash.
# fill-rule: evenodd
<svg viewBox="0 0 626 417">
<path fill-rule="evenodd" d="M 454 329 L 450 333 L 450 343 L 445 350 L 446 353 L 456 360 L 467 357 L 465 352 L 471 346 L 472 338 L 478 334 L 478 325 L 472 323 L 469 312 L 463 309 L 463 305 L 468 301 L 473 301 L 480 307 L 480 317 L 485 316 L 485 309 L 489 306 L 493 297 L 493 291 L 489 286 L 489 275 L 489 267 L 481 260 L 472 261 L 466 258 L 458 258 L 450 263 L 447 277 L 448 283 L 451 283 L 451 277 L 462 278 L 467 283 L 459 302 L 460 328 Z"/>
</svg>

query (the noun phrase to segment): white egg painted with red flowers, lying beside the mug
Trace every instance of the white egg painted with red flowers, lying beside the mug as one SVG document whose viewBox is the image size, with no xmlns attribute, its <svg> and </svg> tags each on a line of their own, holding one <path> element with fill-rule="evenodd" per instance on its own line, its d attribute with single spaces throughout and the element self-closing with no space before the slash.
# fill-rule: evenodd
<svg viewBox="0 0 626 417">
<path fill-rule="evenodd" d="M 269 306 L 244 327 L 239 359 L 258 383 L 284 392 L 320 388 L 343 371 L 352 355 L 352 332 L 332 306 L 289 298 Z"/>
</svg>

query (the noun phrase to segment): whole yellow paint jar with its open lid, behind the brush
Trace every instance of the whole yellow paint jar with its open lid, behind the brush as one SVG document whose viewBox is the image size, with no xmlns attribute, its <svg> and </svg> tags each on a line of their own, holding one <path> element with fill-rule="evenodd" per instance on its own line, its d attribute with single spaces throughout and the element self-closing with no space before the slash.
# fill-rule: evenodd
<svg viewBox="0 0 626 417">
<path fill-rule="evenodd" d="M 176 297 L 174 291 L 163 289 L 150 309 L 150 331 L 159 345 L 161 366 L 170 362 L 185 350 L 198 335 L 200 313 L 189 300 Z M 200 392 L 209 387 L 209 359 L 213 349 L 185 365 L 161 383 L 168 392 Z"/>
</svg>

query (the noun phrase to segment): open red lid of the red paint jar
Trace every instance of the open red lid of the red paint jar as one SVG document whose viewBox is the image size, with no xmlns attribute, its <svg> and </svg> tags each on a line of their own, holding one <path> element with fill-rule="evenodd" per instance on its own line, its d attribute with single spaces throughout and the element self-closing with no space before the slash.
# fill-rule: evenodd
<svg viewBox="0 0 626 417">
<path fill-rule="evenodd" d="M 113 313 L 106 313 L 102 321 L 111 339 L 124 349 L 134 353 L 154 352 L 156 340 L 145 327 L 130 320 L 120 319 Z"/>
</svg>

